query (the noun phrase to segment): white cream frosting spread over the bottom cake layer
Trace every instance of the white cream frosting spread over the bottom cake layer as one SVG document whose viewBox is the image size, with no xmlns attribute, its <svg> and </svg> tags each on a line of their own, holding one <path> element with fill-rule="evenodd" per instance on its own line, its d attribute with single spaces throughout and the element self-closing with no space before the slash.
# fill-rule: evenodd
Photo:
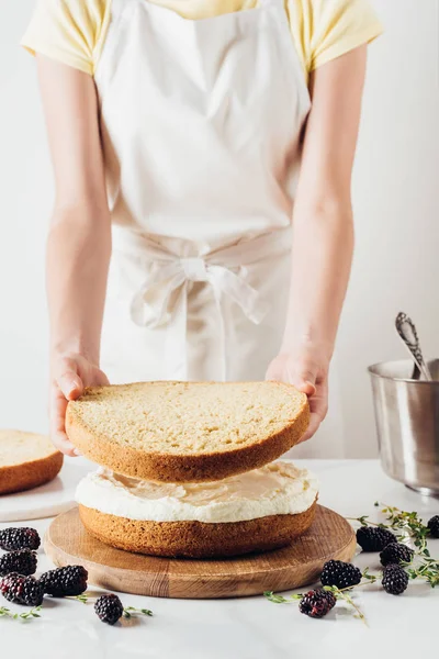
<svg viewBox="0 0 439 659">
<path fill-rule="evenodd" d="M 157 483 L 99 468 L 78 485 L 78 503 L 101 513 L 150 522 L 245 522 L 309 509 L 316 477 L 278 461 L 209 483 Z"/>
</svg>

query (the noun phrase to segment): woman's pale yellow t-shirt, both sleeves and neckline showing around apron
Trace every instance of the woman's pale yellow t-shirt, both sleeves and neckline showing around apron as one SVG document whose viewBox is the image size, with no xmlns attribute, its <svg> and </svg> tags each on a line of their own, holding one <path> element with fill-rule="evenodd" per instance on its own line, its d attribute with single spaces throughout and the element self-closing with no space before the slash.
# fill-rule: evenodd
<svg viewBox="0 0 439 659">
<path fill-rule="evenodd" d="M 148 0 L 145 0 L 147 2 Z M 258 0 L 151 0 L 190 20 L 254 9 Z M 306 77 L 318 66 L 382 32 L 368 0 L 285 0 L 293 42 Z M 21 44 L 86 74 L 97 68 L 111 0 L 37 0 Z"/>
</svg>

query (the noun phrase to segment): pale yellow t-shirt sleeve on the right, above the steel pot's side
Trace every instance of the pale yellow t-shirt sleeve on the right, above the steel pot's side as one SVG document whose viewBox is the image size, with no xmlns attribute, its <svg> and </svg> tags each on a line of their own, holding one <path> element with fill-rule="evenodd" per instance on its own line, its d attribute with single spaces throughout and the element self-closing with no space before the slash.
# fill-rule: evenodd
<svg viewBox="0 0 439 659">
<path fill-rule="evenodd" d="M 369 0 L 290 0 L 290 21 L 308 74 L 383 32 Z"/>
</svg>

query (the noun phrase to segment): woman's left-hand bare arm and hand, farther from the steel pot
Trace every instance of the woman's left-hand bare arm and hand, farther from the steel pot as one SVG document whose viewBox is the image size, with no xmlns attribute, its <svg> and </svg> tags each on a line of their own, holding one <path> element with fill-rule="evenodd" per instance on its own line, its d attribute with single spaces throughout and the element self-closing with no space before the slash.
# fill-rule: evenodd
<svg viewBox="0 0 439 659">
<path fill-rule="evenodd" d="M 111 255 L 98 102 L 93 79 L 37 57 L 55 170 L 56 199 L 47 241 L 50 319 L 50 434 L 74 455 L 65 434 L 67 401 L 106 382 L 100 337 Z"/>
</svg>

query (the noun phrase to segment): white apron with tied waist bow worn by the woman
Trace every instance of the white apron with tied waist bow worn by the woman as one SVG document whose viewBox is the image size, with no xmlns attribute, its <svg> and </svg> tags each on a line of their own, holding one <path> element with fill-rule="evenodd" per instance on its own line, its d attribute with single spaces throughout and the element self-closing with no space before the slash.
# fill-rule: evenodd
<svg viewBox="0 0 439 659">
<path fill-rule="evenodd" d="M 199 21 L 112 0 L 95 82 L 113 219 L 103 370 L 263 379 L 284 327 L 311 104 L 283 0 Z M 333 405 L 330 437 L 294 455 L 340 456 Z"/>
</svg>

